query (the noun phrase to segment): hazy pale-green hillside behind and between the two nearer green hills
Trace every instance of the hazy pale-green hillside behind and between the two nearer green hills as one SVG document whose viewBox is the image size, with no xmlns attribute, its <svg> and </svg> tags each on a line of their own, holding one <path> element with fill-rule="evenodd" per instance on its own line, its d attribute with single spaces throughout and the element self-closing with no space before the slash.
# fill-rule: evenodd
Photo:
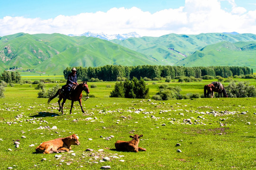
<svg viewBox="0 0 256 170">
<path fill-rule="evenodd" d="M 153 57 L 163 65 L 174 65 L 179 60 L 185 59 L 185 56 L 189 56 L 209 44 L 222 41 L 234 43 L 255 40 L 255 34 L 208 33 L 198 35 L 167 34 L 160 37 L 129 38 L 124 41 L 112 40 L 112 42 Z M 232 65 L 232 63 L 230 64 Z"/>
</svg>

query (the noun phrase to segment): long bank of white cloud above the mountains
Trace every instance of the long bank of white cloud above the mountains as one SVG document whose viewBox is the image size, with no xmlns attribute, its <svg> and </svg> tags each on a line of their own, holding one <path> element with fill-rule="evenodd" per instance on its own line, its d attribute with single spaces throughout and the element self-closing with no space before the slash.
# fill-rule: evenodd
<svg viewBox="0 0 256 170">
<path fill-rule="evenodd" d="M 184 7 L 153 14 L 139 8 L 111 8 L 107 12 L 81 13 L 55 18 L 3 17 L 0 36 L 25 32 L 82 34 L 87 31 L 106 34 L 137 32 L 142 36 L 164 34 L 200 34 L 233 32 L 256 34 L 256 10 L 247 11 L 228 0 L 232 11 L 221 9 L 220 0 L 185 0 Z"/>
</svg>

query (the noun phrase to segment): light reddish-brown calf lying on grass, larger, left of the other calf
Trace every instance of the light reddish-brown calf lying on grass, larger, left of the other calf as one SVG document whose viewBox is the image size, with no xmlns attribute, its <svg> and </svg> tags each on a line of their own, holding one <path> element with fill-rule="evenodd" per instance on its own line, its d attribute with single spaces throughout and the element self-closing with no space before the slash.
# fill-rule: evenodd
<svg viewBox="0 0 256 170">
<path fill-rule="evenodd" d="M 67 136 L 64 138 L 57 138 L 54 140 L 50 140 L 44 142 L 37 146 L 37 153 L 60 153 L 60 152 L 68 152 L 71 150 L 71 145 L 79 145 L 78 138 L 73 134 L 72 136 Z"/>
</svg>

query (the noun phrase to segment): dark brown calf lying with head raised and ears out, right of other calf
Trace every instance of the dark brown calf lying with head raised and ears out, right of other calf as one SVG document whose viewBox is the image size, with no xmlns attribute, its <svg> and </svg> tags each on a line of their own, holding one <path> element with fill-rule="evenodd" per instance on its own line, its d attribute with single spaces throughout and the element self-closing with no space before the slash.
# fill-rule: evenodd
<svg viewBox="0 0 256 170">
<path fill-rule="evenodd" d="M 131 141 L 117 141 L 115 143 L 116 150 L 119 151 L 128 151 L 128 152 L 138 152 L 138 151 L 146 151 L 145 148 L 138 147 L 139 138 L 143 135 L 138 136 L 137 134 L 134 136 L 130 136 L 133 138 Z"/>
</svg>

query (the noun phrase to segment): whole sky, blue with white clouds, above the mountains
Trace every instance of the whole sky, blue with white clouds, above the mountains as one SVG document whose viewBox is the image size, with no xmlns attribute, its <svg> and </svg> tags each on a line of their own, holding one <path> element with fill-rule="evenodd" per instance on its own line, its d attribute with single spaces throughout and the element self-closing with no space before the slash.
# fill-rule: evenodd
<svg viewBox="0 0 256 170">
<path fill-rule="evenodd" d="M 255 0 L 1 0 L 0 36 L 85 32 L 142 36 L 256 34 Z"/>
</svg>

